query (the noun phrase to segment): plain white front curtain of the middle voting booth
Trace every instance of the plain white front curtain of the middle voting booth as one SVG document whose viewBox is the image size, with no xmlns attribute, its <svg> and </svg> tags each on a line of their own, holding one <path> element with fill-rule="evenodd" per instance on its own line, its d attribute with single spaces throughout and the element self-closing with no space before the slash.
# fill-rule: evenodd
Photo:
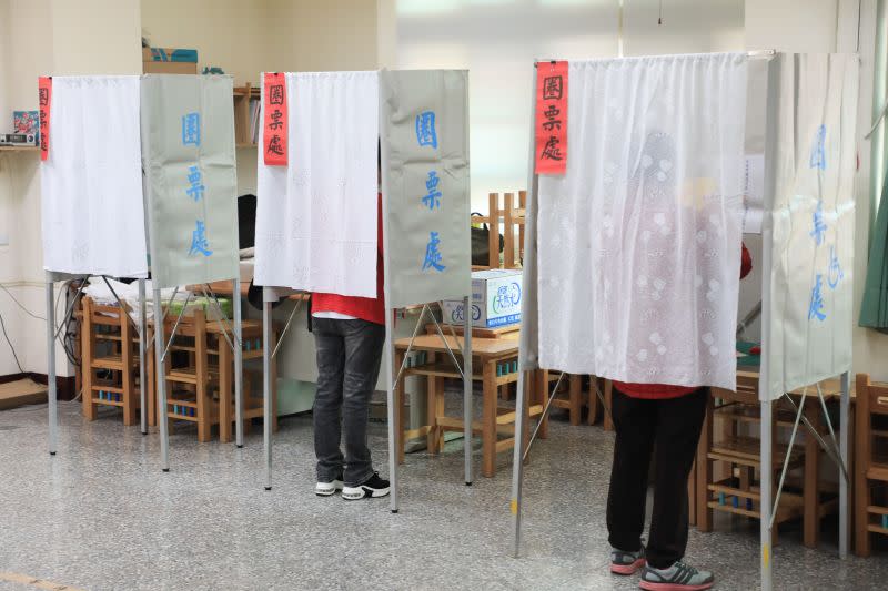
<svg viewBox="0 0 888 591">
<path fill-rule="evenodd" d="M 259 140 L 255 282 L 375 297 L 379 74 L 287 73 L 286 99 L 289 165 Z"/>
</svg>

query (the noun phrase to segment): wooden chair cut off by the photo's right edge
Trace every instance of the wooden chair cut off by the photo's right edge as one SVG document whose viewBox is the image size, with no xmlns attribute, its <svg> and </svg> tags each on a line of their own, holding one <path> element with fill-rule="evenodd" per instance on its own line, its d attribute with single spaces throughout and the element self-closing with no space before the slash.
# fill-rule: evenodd
<svg viewBox="0 0 888 591">
<path fill-rule="evenodd" d="M 874 384 L 868 374 L 858 374 L 855 412 L 855 546 L 857 556 L 868 557 L 870 533 L 888 536 L 888 455 L 872 445 L 874 439 L 888 438 L 888 430 L 875 428 L 872 421 L 888 417 L 888 384 Z"/>
</svg>

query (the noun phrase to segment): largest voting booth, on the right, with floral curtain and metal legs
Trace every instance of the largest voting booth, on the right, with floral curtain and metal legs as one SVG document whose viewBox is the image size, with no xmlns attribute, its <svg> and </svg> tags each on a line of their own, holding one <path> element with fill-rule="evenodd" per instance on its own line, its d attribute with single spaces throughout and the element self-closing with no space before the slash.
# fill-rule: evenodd
<svg viewBox="0 0 888 591">
<path fill-rule="evenodd" d="M 766 61 L 763 75 L 749 77 L 751 60 Z M 761 465 L 774 454 L 773 403 L 808 387 L 826 409 L 814 385 L 840 376 L 840 441 L 825 414 L 831 441 L 821 445 L 839 459 L 845 556 L 857 57 L 766 51 L 535 68 L 516 429 L 525 374 L 541 367 L 736 388 L 748 92 L 766 103 Z M 524 447 L 513 463 L 516 556 Z M 786 465 L 778 482 L 761 470 L 763 589 L 785 475 Z"/>
</svg>

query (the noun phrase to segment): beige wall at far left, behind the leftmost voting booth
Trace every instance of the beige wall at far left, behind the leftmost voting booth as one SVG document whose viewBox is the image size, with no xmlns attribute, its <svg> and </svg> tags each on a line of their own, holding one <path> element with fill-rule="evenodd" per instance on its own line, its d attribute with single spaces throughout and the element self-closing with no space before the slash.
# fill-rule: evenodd
<svg viewBox="0 0 888 591">
<path fill-rule="evenodd" d="M 98 17 L 97 17 L 98 16 Z M 11 126 L 11 111 L 37 109 L 41 74 L 139 73 L 139 0 L 0 0 L 0 128 Z M 44 29 L 38 38 L 33 31 Z M 101 31 L 101 34 L 95 34 Z M 102 130 L 97 130 L 101 132 Z M 46 315 L 40 228 L 39 155 L 0 155 L 0 284 L 31 313 Z M 46 324 L 23 313 L 0 291 L 0 314 L 26 371 L 46 373 Z M 60 348 L 57 370 L 70 375 Z M 0 339 L 0 375 L 18 373 Z"/>
</svg>

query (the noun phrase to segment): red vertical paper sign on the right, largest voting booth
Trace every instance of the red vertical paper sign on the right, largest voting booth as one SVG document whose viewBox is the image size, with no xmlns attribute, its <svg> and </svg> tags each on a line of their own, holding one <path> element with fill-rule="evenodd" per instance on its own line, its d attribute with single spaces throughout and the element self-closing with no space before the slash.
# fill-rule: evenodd
<svg viewBox="0 0 888 591">
<path fill-rule="evenodd" d="M 534 143 L 536 174 L 567 171 L 567 62 L 538 62 Z"/>
</svg>

